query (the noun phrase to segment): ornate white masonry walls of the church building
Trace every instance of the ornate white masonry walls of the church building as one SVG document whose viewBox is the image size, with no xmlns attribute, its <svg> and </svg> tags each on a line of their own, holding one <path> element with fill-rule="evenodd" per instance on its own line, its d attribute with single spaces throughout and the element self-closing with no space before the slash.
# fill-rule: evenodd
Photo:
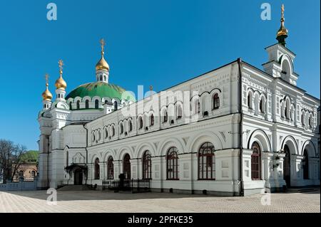
<svg viewBox="0 0 321 227">
<path fill-rule="evenodd" d="M 294 53 L 280 43 L 266 50 L 265 71 L 238 59 L 138 102 L 63 93 L 39 113 L 39 188 L 102 186 L 124 171 L 151 179 L 155 191 L 240 196 L 320 185 L 320 100 L 296 86 Z M 151 167 L 143 167 L 144 154 Z"/>
</svg>

